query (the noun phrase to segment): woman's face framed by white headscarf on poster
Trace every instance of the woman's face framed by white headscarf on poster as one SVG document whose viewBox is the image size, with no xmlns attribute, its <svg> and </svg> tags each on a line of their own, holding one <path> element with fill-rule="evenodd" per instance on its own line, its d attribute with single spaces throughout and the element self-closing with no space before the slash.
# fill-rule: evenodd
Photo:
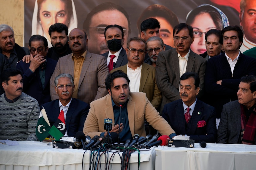
<svg viewBox="0 0 256 170">
<path fill-rule="evenodd" d="M 45 0 L 39 7 L 39 17 L 42 28 L 50 39 L 48 34 L 49 27 L 55 23 L 62 23 L 68 26 L 68 12 L 66 4 L 61 0 Z"/>
</svg>

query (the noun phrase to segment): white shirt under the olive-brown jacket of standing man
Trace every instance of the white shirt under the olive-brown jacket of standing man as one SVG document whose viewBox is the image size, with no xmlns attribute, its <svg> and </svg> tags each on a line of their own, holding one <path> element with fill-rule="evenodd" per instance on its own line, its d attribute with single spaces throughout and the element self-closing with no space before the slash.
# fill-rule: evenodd
<svg viewBox="0 0 256 170">
<path fill-rule="evenodd" d="M 129 87 L 131 92 L 139 92 L 140 90 L 141 68 L 142 68 L 142 64 L 140 65 L 140 67 L 137 67 L 135 70 L 128 67 L 128 64 L 127 64 L 127 75 L 130 79 Z"/>
</svg>

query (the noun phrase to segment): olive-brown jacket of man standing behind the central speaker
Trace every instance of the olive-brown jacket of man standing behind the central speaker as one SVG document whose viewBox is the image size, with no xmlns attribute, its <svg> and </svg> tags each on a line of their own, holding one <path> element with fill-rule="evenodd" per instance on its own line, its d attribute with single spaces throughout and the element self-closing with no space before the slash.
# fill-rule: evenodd
<svg viewBox="0 0 256 170">
<path fill-rule="evenodd" d="M 111 70 L 111 73 L 116 70 L 122 70 L 127 74 L 127 64 Z M 157 87 L 156 69 L 155 67 L 146 63 L 143 63 L 141 67 L 139 91 L 146 93 L 148 100 L 155 108 L 158 108 L 160 106 L 162 101 L 162 95 L 161 91 Z"/>
</svg>

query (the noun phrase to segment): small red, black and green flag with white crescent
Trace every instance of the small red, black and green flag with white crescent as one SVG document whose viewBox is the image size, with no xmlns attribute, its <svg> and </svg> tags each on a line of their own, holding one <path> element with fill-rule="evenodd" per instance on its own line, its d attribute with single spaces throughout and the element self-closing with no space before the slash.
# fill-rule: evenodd
<svg viewBox="0 0 256 170">
<path fill-rule="evenodd" d="M 64 118 L 64 111 L 61 110 L 58 119 L 51 127 L 49 134 L 52 135 L 56 140 L 59 140 L 66 133 L 66 125 Z"/>
</svg>

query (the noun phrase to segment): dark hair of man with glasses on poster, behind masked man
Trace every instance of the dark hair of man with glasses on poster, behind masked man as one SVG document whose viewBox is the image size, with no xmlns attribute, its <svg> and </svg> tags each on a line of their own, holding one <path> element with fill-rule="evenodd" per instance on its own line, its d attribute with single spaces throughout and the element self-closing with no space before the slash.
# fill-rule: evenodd
<svg viewBox="0 0 256 170">
<path fill-rule="evenodd" d="M 131 33 L 131 28 L 130 28 L 130 20 L 129 20 L 129 15 L 127 14 L 127 12 L 124 10 L 124 8 L 122 8 L 121 6 L 114 4 L 112 2 L 105 2 L 102 4 L 99 4 L 98 6 L 94 7 L 94 9 L 91 10 L 91 12 L 89 14 L 87 14 L 86 19 L 83 22 L 83 30 L 86 31 L 88 33 L 89 36 L 89 26 L 91 25 L 91 18 L 102 11 L 113 11 L 113 10 L 117 10 L 121 13 L 124 14 L 124 16 L 126 17 L 127 21 L 128 21 L 128 34 Z"/>
</svg>

